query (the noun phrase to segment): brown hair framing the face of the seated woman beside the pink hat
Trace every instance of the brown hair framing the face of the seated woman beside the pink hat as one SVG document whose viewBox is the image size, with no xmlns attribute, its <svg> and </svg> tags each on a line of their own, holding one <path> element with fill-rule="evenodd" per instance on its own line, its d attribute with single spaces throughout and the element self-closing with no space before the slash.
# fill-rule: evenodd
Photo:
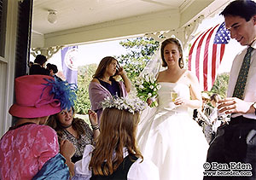
<svg viewBox="0 0 256 180">
<path fill-rule="evenodd" d="M 73 114 L 74 114 L 74 108 L 73 107 L 72 107 L 72 110 L 73 110 Z M 64 131 L 65 128 L 63 128 L 61 126 L 61 123 L 60 123 L 57 115 L 58 115 L 58 113 L 55 113 L 54 115 L 49 116 L 49 119 L 48 119 L 46 125 L 49 125 L 52 129 L 54 129 L 56 131 L 56 133 L 58 135 L 59 142 L 61 142 L 61 138 L 63 136 L 63 131 Z M 83 119 L 78 119 L 78 118 L 73 117 L 72 127 L 75 131 L 78 132 L 79 136 L 85 134 L 85 130 L 82 126 L 81 121 L 83 121 Z"/>
</svg>

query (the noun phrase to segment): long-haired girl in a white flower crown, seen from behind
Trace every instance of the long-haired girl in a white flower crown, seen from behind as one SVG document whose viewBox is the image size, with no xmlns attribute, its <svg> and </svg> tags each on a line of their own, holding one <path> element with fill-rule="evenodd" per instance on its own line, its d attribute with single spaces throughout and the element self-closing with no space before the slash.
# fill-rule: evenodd
<svg viewBox="0 0 256 180">
<path fill-rule="evenodd" d="M 144 102 L 108 97 L 102 107 L 101 134 L 96 147 L 85 147 L 83 160 L 75 164 L 73 180 L 159 180 L 155 165 L 143 160 L 137 148 L 137 124 Z"/>
</svg>

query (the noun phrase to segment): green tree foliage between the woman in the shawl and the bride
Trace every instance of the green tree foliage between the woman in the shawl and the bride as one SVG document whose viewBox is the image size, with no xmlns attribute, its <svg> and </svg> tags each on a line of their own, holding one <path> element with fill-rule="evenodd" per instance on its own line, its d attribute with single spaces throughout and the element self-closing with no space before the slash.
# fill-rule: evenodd
<svg viewBox="0 0 256 180">
<path fill-rule="evenodd" d="M 121 66 L 125 68 L 128 78 L 131 82 L 143 71 L 154 51 L 158 49 L 159 42 L 153 38 L 131 38 L 119 43 L 127 49 L 126 55 L 117 57 Z"/>
</svg>

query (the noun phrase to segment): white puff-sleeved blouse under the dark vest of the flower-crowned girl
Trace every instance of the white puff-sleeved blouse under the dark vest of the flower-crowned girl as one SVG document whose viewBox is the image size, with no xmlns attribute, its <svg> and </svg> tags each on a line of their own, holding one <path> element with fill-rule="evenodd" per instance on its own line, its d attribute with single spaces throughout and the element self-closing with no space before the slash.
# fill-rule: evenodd
<svg viewBox="0 0 256 180">
<path fill-rule="evenodd" d="M 91 171 L 89 170 L 91 152 L 93 146 L 86 145 L 84 148 L 83 159 L 75 163 L 75 176 L 73 180 L 90 180 Z M 127 148 L 124 148 L 124 158 L 128 155 Z M 159 180 L 159 171 L 156 165 L 150 160 L 137 159 L 130 167 L 127 174 L 128 180 Z"/>
</svg>

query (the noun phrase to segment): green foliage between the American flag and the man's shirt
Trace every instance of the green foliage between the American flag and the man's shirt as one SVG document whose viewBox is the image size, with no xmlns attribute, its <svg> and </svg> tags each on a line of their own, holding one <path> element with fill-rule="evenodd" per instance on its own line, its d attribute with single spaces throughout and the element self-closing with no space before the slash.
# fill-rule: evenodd
<svg viewBox="0 0 256 180">
<path fill-rule="evenodd" d="M 213 93 L 217 93 L 222 98 L 226 97 L 229 79 L 230 79 L 230 73 L 218 74 L 212 86 L 212 90 L 210 91 L 210 94 L 212 95 Z"/>
</svg>

